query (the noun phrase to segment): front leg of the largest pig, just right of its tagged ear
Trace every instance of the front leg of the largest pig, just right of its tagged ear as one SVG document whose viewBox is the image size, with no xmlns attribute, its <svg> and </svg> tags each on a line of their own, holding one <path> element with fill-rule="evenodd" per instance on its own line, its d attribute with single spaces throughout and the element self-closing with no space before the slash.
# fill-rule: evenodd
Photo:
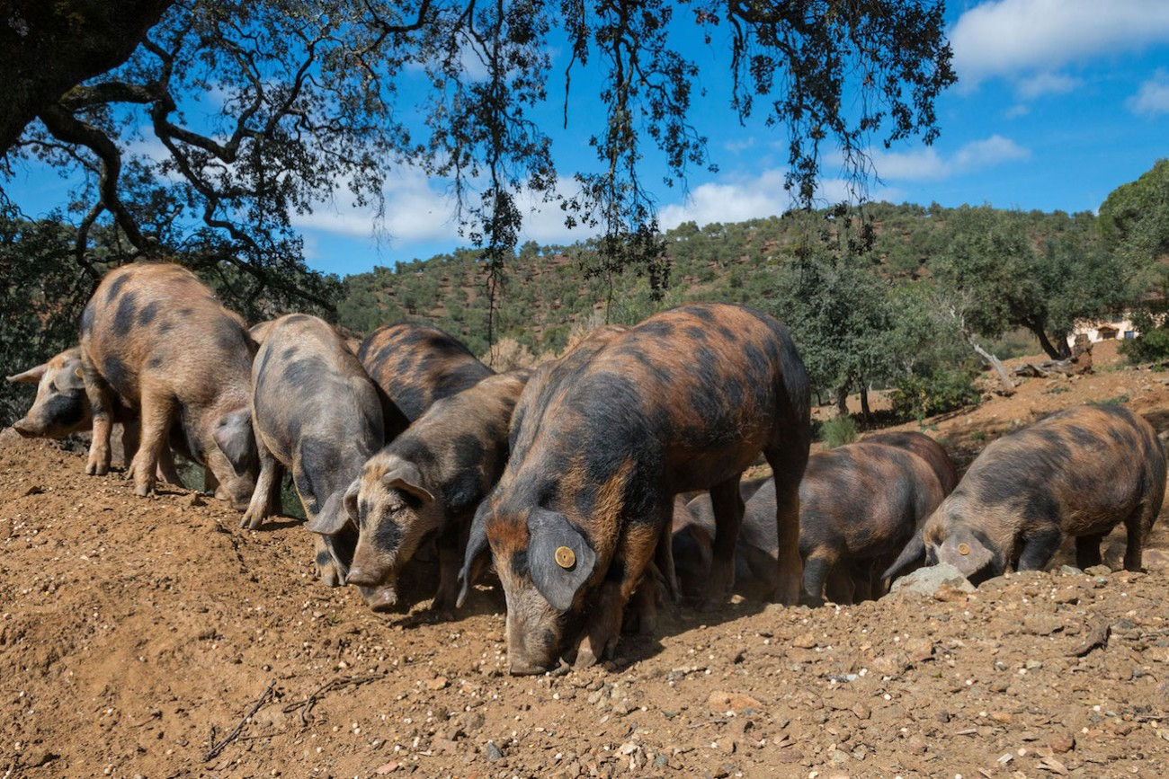
<svg viewBox="0 0 1169 779">
<path fill-rule="evenodd" d="M 606 579 L 597 591 L 584 626 L 584 638 L 576 652 L 576 666 L 587 668 L 613 655 L 621 637 L 625 604 L 641 585 L 662 531 L 662 526 L 636 524 L 622 535 L 614 556 L 615 561 L 624 563 L 623 568 L 617 566 L 621 568 L 621 578 Z"/>
</svg>

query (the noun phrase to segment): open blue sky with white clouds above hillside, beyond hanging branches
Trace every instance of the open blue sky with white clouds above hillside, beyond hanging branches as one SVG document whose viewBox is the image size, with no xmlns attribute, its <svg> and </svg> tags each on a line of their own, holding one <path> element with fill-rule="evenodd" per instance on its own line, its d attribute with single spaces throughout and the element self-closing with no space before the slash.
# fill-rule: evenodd
<svg viewBox="0 0 1169 779">
<path fill-rule="evenodd" d="M 880 181 L 870 187 L 872 199 L 1094 210 L 1116 186 L 1169 157 L 1169 0 L 950 2 L 947 21 L 960 81 L 938 103 L 941 138 L 932 147 L 914 140 L 874 149 Z M 687 47 L 708 91 L 696 105 L 696 121 L 719 172 L 692 171 L 686 193 L 657 186 L 665 228 L 769 216 L 790 206 L 782 187 L 786 139 L 734 120 L 719 46 L 715 39 L 714 51 L 697 40 Z M 563 70 L 562 56 L 556 54 L 553 74 Z M 561 93 L 558 77 L 552 95 Z M 574 77 L 579 95 L 596 91 L 587 77 Z M 559 109 L 549 106 L 547 116 L 559 119 Z M 554 132 L 561 171 L 593 164 L 583 139 L 595 118 L 587 102 L 574 104 L 569 130 Z M 652 155 L 646 160 L 648 182 L 660 181 L 659 165 Z M 836 175 L 829 160 L 829 199 L 842 192 Z M 63 182 L 35 166 L 8 188 L 34 215 L 64 202 Z M 444 193 L 443 182 L 403 169 L 390 173 L 381 224 L 344 197 L 321 204 L 297 222 L 310 265 L 353 273 L 465 245 Z M 566 230 L 559 209 L 551 208 L 530 215 L 524 239 L 584 237 Z"/>
</svg>

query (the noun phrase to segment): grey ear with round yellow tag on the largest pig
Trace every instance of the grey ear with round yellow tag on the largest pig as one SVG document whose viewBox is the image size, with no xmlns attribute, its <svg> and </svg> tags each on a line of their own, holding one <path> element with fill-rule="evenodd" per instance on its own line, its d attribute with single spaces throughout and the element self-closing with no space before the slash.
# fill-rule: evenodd
<svg viewBox="0 0 1169 779">
<path fill-rule="evenodd" d="M 540 594 L 558 611 L 568 611 L 576 592 L 593 575 L 596 552 L 568 517 L 538 508 L 527 517 L 527 569 Z"/>
</svg>

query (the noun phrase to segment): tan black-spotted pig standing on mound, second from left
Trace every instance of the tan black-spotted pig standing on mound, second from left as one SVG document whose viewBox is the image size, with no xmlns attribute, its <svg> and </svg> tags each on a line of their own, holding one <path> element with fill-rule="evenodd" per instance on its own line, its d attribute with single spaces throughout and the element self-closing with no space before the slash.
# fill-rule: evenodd
<svg viewBox="0 0 1169 779">
<path fill-rule="evenodd" d="M 82 313 L 81 348 L 94 437 L 85 472 L 110 468 L 112 409 L 139 411 L 138 452 L 126 475 L 154 491 L 154 472 L 178 423 L 192 459 L 212 471 L 234 507 L 255 487 L 251 357 L 247 326 L 194 273 L 173 263 L 134 263 L 105 274 Z"/>
</svg>

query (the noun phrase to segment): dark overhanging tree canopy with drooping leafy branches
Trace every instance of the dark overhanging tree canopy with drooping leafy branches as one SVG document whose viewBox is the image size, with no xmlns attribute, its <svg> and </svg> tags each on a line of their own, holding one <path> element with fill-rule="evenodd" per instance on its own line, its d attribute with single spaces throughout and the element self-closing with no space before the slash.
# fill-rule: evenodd
<svg viewBox="0 0 1169 779">
<path fill-rule="evenodd" d="M 452 182 L 463 235 L 492 278 L 512 256 L 520 195 L 534 193 L 595 225 L 603 262 L 634 263 L 659 285 L 645 158 L 664 160 L 667 185 L 713 165 L 692 120 L 711 107 L 680 41 L 697 30 L 715 50 L 729 43 L 720 110 L 787 135 L 788 186 L 810 203 L 826 151 L 863 181 L 872 144 L 938 135 L 934 100 L 955 79 L 942 8 L 25 0 L 0 41 L 0 77 L 16 95 L 0 152 L 9 171 L 39 157 L 85 174 L 62 206 L 74 259 L 91 274 L 92 230 L 110 222 L 131 255 L 178 245 L 234 265 L 260 294 L 303 267 L 296 215 L 344 190 L 376 204 L 386 175 L 413 165 Z M 574 114 L 586 89 L 602 110 Z M 568 186 L 558 187 L 541 119 L 552 102 L 563 121 L 590 127 L 595 165 Z M 289 291 L 327 304 L 311 286 Z"/>
</svg>

